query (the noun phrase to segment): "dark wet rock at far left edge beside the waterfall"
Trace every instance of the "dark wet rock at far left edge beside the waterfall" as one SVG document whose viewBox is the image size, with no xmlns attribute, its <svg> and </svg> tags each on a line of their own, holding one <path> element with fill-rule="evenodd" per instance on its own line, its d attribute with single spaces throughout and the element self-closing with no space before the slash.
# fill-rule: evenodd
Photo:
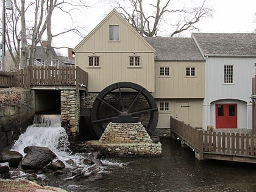
<svg viewBox="0 0 256 192">
<path fill-rule="evenodd" d="M 17 168 L 21 162 L 23 155 L 17 151 L 0 152 L 0 163 L 9 162 L 9 165 Z"/>
</svg>

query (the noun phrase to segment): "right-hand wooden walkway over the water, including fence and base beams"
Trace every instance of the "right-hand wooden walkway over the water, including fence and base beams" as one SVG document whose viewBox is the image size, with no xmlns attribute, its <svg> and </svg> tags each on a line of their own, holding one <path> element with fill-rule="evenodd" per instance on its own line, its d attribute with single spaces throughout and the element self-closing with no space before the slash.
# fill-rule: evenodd
<svg viewBox="0 0 256 192">
<path fill-rule="evenodd" d="M 195 151 L 198 160 L 216 159 L 256 163 L 256 137 L 252 132 L 196 129 L 171 117 L 171 132 Z"/>
</svg>

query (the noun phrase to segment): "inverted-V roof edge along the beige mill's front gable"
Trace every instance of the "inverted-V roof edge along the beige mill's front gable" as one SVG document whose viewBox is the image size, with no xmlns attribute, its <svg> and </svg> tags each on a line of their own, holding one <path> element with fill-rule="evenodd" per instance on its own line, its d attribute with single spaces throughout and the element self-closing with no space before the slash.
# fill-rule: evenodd
<svg viewBox="0 0 256 192">
<path fill-rule="evenodd" d="M 117 18 L 123 22 L 132 32 L 134 35 L 137 35 L 138 38 L 140 38 L 141 41 L 143 41 L 144 44 L 146 44 L 146 46 L 148 47 L 148 49 L 150 49 L 152 52 L 155 52 L 155 49 L 152 48 L 152 46 L 146 41 L 144 40 L 144 38 L 137 32 L 137 30 L 135 30 L 130 23 L 128 23 L 121 15 L 120 13 L 118 13 L 115 9 L 113 9 L 110 13 L 108 13 L 107 16 L 105 16 L 105 18 L 96 26 L 94 27 L 93 30 L 91 30 L 91 32 L 82 40 L 80 41 L 79 44 L 77 44 L 77 46 L 73 49 L 74 52 L 77 52 L 79 48 L 82 47 L 82 45 L 84 43 L 86 43 L 86 41 L 93 36 L 97 30 L 99 30 L 100 27 L 102 27 L 109 18 L 111 18 L 113 15 L 117 16 Z"/>
</svg>

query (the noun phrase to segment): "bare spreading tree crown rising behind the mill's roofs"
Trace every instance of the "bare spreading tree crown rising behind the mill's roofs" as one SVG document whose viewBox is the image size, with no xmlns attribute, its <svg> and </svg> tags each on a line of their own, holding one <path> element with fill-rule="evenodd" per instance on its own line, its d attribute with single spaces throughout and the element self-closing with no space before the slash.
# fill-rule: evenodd
<svg viewBox="0 0 256 192">
<path fill-rule="evenodd" d="M 201 20 L 201 18 L 211 16 L 212 9 L 205 7 L 205 1 L 198 7 L 193 7 L 193 9 L 188 10 L 183 6 L 182 8 L 175 7 L 171 8 L 171 0 L 161 1 L 156 0 L 154 3 L 149 3 L 148 5 L 143 0 L 129 0 L 132 8 L 127 8 L 125 2 L 121 0 L 112 0 L 112 6 L 118 9 L 124 18 L 135 27 L 141 35 L 147 37 L 153 37 L 157 35 L 158 30 L 160 30 L 161 24 L 169 18 L 174 18 L 179 16 L 177 23 L 171 24 L 175 26 L 173 32 L 170 32 L 170 36 L 173 37 L 176 34 L 180 34 L 185 30 L 197 29 L 195 24 Z M 145 8 L 148 6 L 147 8 Z M 148 12 L 148 10 L 152 12 Z"/>
</svg>

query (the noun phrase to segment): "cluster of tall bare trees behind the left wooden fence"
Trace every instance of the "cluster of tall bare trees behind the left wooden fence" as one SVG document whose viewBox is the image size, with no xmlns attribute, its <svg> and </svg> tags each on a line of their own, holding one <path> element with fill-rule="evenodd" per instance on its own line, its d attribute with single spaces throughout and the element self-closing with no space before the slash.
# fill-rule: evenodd
<svg viewBox="0 0 256 192">
<path fill-rule="evenodd" d="M 21 63 L 21 68 L 27 65 L 34 65 L 35 51 L 43 35 L 46 34 L 48 46 L 44 50 L 46 54 L 46 65 L 51 63 L 52 38 L 60 34 L 74 32 L 82 35 L 82 27 L 65 29 L 59 34 L 52 35 L 52 12 L 60 9 L 72 18 L 74 10 L 82 10 L 85 7 L 84 1 L 73 0 L 13 0 L 14 9 L 9 14 L 7 21 L 7 48 L 15 62 L 16 69 Z M 68 7 L 67 9 L 65 9 Z M 33 15 L 34 14 L 34 15 Z"/>
</svg>

